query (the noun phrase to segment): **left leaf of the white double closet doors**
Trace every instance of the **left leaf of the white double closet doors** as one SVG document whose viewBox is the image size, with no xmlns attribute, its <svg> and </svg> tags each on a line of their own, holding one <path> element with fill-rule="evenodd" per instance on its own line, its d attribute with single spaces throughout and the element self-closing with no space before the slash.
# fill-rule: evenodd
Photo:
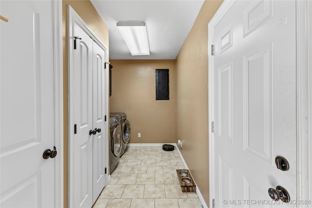
<svg viewBox="0 0 312 208">
<path fill-rule="evenodd" d="M 93 204 L 93 40 L 75 24 L 75 37 L 77 39 L 74 50 L 74 122 L 77 133 L 71 140 L 74 146 L 72 166 L 74 172 L 75 205 L 73 207 L 92 207 Z"/>
</svg>

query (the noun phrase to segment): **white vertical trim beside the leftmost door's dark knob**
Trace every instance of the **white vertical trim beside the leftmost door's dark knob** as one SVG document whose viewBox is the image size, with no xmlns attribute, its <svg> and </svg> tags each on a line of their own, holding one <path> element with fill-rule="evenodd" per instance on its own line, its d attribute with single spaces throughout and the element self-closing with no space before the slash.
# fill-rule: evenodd
<svg viewBox="0 0 312 208">
<path fill-rule="evenodd" d="M 55 146 L 55 207 L 62 208 L 64 201 L 63 179 L 63 37 L 62 1 L 53 0 L 53 56 L 54 56 L 54 121 Z"/>
</svg>

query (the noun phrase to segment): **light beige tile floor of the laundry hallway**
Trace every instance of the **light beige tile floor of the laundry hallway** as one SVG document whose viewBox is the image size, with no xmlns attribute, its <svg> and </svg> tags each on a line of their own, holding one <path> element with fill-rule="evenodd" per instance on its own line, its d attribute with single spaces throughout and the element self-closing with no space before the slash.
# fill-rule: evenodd
<svg viewBox="0 0 312 208">
<path fill-rule="evenodd" d="M 128 147 L 93 208 L 201 208 L 195 192 L 182 192 L 176 169 L 185 169 L 176 150 Z"/>
</svg>

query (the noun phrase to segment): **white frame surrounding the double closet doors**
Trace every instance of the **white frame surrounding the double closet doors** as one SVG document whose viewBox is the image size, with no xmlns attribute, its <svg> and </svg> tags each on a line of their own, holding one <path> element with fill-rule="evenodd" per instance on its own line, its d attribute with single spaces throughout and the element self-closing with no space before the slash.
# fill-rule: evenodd
<svg viewBox="0 0 312 208">
<path fill-rule="evenodd" d="M 74 139 L 74 23 L 78 24 L 81 29 L 88 34 L 106 53 L 105 56 L 105 92 L 108 95 L 109 91 L 109 83 L 108 83 L 108 76 L 109 76 L 109 67 L 108 67 L 108 50 L 107 47 L 100 41 L 100 39 L 93 33 L 93 31 L 89 28 L 87 23 L 80 18 L 78 13 L 70 6 L 68 5 L 68 151 L 69 151 L 69 174 L 68 174 L 68 196 L 69 196 L 69 207 L 72 207 L 74 205 L 74 194 L 71 194 L 71 190 L 74 189 L 74 181 L 73 181 L 73 156 L 74 156 L 74 147 L 71 145 L 73 139 Z M 105 112 L 108 117 L 108 96 L 105 96 Z M 106 133 L 103 134 L 104 140 L 108 141 L 108 122 L 104 126 L 104 131 Z M 105 144 L 104 147 L 104 155 L 106 155 L 106 162 L 105 167 L 108 167 L 108 144 Z M 107 169 L 108 170 L 108 169 Z M 105 174 L 105 186 L 108 183 L 108 173 Z"/>
</svg>

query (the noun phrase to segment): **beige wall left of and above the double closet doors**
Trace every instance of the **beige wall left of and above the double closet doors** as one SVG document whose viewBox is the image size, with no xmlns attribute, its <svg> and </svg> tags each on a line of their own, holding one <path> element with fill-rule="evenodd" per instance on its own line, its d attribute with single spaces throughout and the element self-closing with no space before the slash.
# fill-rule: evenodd
<svg viewBox="0 0 312 208">
<path fill-rule="evenodd" d="M 89 0 L 63 0 L 63 86 L 64 86 L 64 208 L 68 207 L 68 25 L 67 7 L 71 5 L 89 28 L 108 48 L 108 28 Z"/>
</svg>

